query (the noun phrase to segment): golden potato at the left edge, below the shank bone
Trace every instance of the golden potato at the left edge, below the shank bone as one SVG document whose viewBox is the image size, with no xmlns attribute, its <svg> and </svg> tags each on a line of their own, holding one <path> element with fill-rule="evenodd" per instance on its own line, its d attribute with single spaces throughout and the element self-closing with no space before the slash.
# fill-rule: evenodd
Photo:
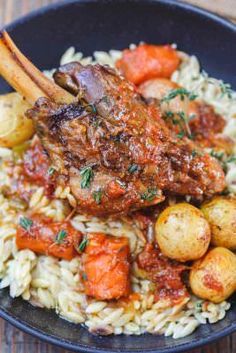
<svg viewBox="0 0 236 353">
<path fill-rule="evenodd" d="M 0 96 L 0 146 L 14 147 L 34 133 L 33 123 L 24 115 L 30 106 L 18 93 Z"/>
</svg>

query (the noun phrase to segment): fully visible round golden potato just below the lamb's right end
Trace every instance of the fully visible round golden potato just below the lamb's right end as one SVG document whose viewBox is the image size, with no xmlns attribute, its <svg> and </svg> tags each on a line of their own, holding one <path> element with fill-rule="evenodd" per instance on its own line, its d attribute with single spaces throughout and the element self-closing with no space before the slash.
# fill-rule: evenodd
<svg viewBox="0 0 236 353">
<path fill-rule="evenodd" d="M 155 233 L 162 253 L 181 262 L 202 257 L 211 238 L 202 212 L 188 203 L 166 208 L 157 219 Z"/>
</svg>

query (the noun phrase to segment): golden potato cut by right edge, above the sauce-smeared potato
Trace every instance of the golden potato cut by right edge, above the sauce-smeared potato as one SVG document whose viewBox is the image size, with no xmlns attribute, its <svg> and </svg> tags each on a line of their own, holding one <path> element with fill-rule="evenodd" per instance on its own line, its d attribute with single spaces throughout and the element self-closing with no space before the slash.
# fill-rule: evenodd
<svg viewBox="0 0 236 353">
<path fill-rule="evenodd" d="M 212 244 L 236 250 L 236 199 L 216 197 L 201 210 L 211 227 Z"/>
</svg>

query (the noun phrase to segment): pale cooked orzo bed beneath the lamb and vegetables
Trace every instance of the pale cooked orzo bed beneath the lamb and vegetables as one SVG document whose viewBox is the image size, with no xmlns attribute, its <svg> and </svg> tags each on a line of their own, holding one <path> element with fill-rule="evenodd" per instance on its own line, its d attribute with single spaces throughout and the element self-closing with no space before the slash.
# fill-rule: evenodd
<svg viewBox="0 0 236 353">
<path fill-rule="evenodd" d="M 182 63 L 171 80 L 212 104 L 227 120 L 225 134 L 235 140 L 236 93 L 227 91 L 228 86 L 223 82 L 201 71 L 196 57 L 182 52 L 179 55 Z M 114 62 L 120 57 L 121 52 L 111 50 L 109 53 L 95 52 L 94 58 L 84 58 L 82 53 L 75 53 L 74 48 L 70 48 L 62 56 L 61 64 L 78 60 L 83 64 L 98 62 L 114 67 Z M 47 74 L 51 75 L 51 72 Z M 222 87 L 226 87 L 226 92 Z M 156 301 L 151 281 L 142 278 L 135 261 L 132 263 L 133 294 L 130 300 L 109 302 L 85 295 L 80 256 L 66 261 L 37 255 L 27 249 L 18 250 L 15 235 L 22 214 L 30 209 L 54 221 L 63 221 L 76 202 L 69 187 L 58 187 L 51 198 L 43 186 L 30 182 L 24 183 L 23 190 L 30 194 L 28 203 L 8 197 L 7 190 L 13 187 L 12 180 L 17 180 L 21 173 L 18 162 L 24 151 L 18 152 L 17 149 L 0 148 L 0 287 L 9 287 L 12 297 L 21 296 L 32 305 L 54 309 L 62 318 L 85 324 L 92 333 L 105 335 L 149 332 L 180 338 L 192 333 L 200 324 L 215 323 L 225 317 L 230 308 L 226 301 L 214 304 L 193 295 L 174 306 L 166 300 Z M 228 190 L 236 193 L 236 162 L 225 160 L 224 163 Z M 174 204 L 175 198 L 169 199 L 169 203 Z M 127 237 L 133 258 L 146 242 L 135 216 L 113 220 L 73 214 L 71 224 L 81 233 L 102 232 L 114 237 Z"/>
</svg>

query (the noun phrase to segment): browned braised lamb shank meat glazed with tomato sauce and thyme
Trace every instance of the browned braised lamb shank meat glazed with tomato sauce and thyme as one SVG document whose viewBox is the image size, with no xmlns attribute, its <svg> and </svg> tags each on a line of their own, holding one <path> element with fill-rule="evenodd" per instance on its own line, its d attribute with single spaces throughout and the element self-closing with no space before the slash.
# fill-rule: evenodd
<svg viewBox="0 0 236 353">
<path fill-rule="evenodd" d="M 0 73 L 14 86 L 1 64 Z M 54 79 L 66 90 L 67 103 L 45 94 L 59 89 L 48 82 L 27 116 L 57 170 L 57 182 L 70 186 L 79 211 L 128 213 L 161 202 L 165 192 L 198 198 L 224 189 L 218 162 L 187 138 L 174 137 L 157 107 L 147 105 L 113 69 L 75 62 L 56 71 Z M 23 86 L 17 89 L 27 98 Z"/>
</svg>

